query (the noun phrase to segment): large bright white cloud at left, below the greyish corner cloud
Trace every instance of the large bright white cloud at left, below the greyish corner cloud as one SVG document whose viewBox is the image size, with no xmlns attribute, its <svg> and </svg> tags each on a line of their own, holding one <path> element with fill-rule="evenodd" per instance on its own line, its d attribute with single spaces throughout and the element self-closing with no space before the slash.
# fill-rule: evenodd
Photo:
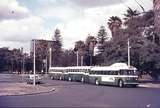
<svg viewBox="0 0 160 108">
<path fill-rule="evenodd" d="M 29 41 L 43 32 L 43 20 L 30 16 L 21 20 L 3 20 L 0 22 L 0 40 Z"/>
</svg>

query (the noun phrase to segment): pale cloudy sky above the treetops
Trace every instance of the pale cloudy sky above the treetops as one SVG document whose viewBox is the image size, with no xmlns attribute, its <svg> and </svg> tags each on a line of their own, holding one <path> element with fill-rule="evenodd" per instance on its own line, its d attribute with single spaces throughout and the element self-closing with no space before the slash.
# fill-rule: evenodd
<svg viewBox="0 0 160 108">
<path fill-rule="evenodd" d="M 145 10 L 153 9 L 152 0 L 136 0 Z M 142 11 L 135 0 L 0 0 L 0 48 L 30 51 L 32 39 L 51 40 L 60 29 L 63 48 L 75 41 L 96 36 L 100 26 L 110 34 L 111 16 L 123 18 L 127 7 Z"/>
</svg>

